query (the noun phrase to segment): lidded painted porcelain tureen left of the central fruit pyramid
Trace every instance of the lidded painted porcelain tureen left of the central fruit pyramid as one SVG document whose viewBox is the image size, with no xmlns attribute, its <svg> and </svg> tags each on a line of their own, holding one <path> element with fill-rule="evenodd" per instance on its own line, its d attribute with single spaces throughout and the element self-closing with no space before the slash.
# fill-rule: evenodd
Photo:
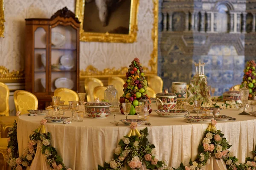
<svg viewBox="0 0 256 170">
<path fill-rule="evenodd" d="M 112 105 L 109 102 L 100 102 L 99 98 L 95 102 L 86 102 L 84 104 L 85 113 L 90 118 L 106 118 L 110 115 L 109 107 Z"/>
</svg>

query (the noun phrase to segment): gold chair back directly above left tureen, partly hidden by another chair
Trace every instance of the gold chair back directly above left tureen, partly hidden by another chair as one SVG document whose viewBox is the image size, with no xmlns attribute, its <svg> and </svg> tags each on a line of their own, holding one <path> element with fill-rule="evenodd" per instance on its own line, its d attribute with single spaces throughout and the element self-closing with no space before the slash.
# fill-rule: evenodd
<svg viewBox="0 0 256 170">
<path fill-rule="evenodd" d="M 102 81 L 100 81 L 99 79 L 90 77 L 84 80 L 84 89 L 86 93 L 87 102 L 93 102 L 95 100 L 93 99 L 93 90 L 97 86 L 103 86 Z"/>
</svg>

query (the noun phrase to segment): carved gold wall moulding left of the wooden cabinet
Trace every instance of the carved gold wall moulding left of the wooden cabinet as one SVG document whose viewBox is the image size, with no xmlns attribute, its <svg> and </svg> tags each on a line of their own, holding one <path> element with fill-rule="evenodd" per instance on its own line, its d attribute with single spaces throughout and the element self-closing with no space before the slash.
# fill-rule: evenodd
<svg viewBox="0 0 256 170">
<path fill-rule="evenodd" d="M 0 82 L 20 82 L 25 80 L 24 71 L 9 71 L 6 67 L 0 66 Z"/>
</svg>

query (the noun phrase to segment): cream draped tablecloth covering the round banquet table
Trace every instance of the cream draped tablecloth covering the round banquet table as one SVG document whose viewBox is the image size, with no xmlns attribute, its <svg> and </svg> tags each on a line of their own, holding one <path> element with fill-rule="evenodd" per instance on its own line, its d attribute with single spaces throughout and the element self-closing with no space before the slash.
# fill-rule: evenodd
<svg viewBox="0 0 256 170">
<path fill-rule="evenodd" d="M 152 108 L 154 110 L 156 106 L 153 104 Z M 246 157 L 253 156 L 251 151 L 256 144 L 256 118 L 238 115 L 240 112 L 221 110 L 221 114 L 235 117 L 236 121 L 218 121 L 216 128 L 221 130 L 229 144 L 232 144 L 230 150 L 239 159 L 239 163 L 244 163 Z M 191 116 L 195 115 L 191 113 Z M 66 116 L 71 117 L 71 112 L 68 111 Z M 19 116 L 17 140 L 20 154 L 29 142 L 29 135 L 40 126 L 40 121 L 44 117 Z M 136 118 L 136 115 L 128 116 L 128 119 Z M 125 119 L 125 115 L 117 114 L 116 120 L 119 119 Z M 130 130 L 128 125 L 120 122 L 119 126 L 116 126 L 111 124 L 111 121 L 113 121 L 112 115 L 106 119 L 91 119 L 85 115 L 83 122 L 66 125 L 47 122 L 45 126 L 47 132 L 51 133 L 52 146 L 56 148 L 67 167 L 73 170 L 96 170 L 98 164 L 103 166 L 104 161 L 111 160 L 119 140 Z M 181 162 L 188 165 L 190 158 L 192 160 L 196 158 L 198 145 L 209 125 L 209 123 L 189 124 L 184 118 L 160 117 L 154 111 L 150 114 L 150 122 L 151 126 L 140 125 L 137 129 L 148 127 L 148 140 L 155 145 L 158 159 L 165 160 L 169 166 L 175 168 Z M 45 168 L 41 167 L 42 169 Z M 211 164 L 206 169 L 225 169 L 225 163 L 211 160 Z"/>
</svg>

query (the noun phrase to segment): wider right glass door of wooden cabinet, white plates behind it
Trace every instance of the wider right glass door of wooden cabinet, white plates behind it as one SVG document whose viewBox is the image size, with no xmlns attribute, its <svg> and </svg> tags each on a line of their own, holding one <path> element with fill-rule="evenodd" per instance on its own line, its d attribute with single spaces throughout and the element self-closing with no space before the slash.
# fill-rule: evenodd
<svg viewBox="0 0 256 170">
<path fill-rule="evenodd" d="M 51 29 L 51 92 L 56 88 L 76 91 L 76 29 L 58 25 Z"/>
</svg>

